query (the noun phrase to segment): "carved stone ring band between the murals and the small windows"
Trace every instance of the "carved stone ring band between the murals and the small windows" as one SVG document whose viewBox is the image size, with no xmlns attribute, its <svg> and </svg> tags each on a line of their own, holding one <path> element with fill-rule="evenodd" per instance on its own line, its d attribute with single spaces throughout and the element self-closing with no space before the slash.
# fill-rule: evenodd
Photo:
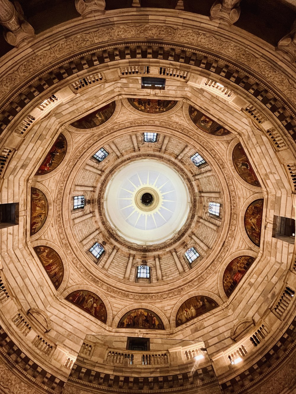
<svg viewBox="0 0 296 394">
<path fill-rule="evenodd" d="M 65 192 L 65 187 L 67 183 L 67 179 L 73 170 L 73 167 L 77 165 L 77 162 L 79 162 L 79 158 L 86 152 L 90 147 L 94 145 L 98 141 L 98 139 L 102 138 L 103 136 L 110 136 L 110 138 L 113 138 L 113 135 L 116 135 L 117 133 L 120 133 L 122 130 L 130 129 L 131 126 L 137 126 L 139 130 L 141 130 L 141 127 L 145 126 L 159 126 L 159 127 L 164 127 L 168 128 L 170 130 L 176 130 L 178 131 L 181 135 L 184 136 L 184 138 L 190 138 L 192 141 L 195 140 L 196 134 L 193 130 L 180 126 L 176 123 L 171 123 L 168 121 L 161 121 L 161 120 L 154 120 L 154 119 L 143 119 L 143 120 L 134 120 L 134 121 L 129 121 L 126 123 L 118 124 L 111 126 L 109 128 L 105 128 L 104 130 L 101 130 L 100 132 L 96 132 L 96 135 L 94 135 L 92 138 L 89 138 L 86 143 L 84 143 L 80 149 L 78 149 L 75 154 L 71 157 L 69 160 L 69 163 L 65 170 L 63 171 L 62 177 L 60 178 L 59 182 L 59 188 L 57 190 L 57 195 L 56 195 L 56 206 L 62 208 L 63 204 L 63 199 L 64 199 L 64 192 Z M 58 235 L 60 237 L 60 241 L 64 247 L 64 250 L 66 251 L 67 255 L 69 256 L 69 259 L 73 264 L 75 264 L 76 268 L 81 272 L 81 274 L 88 278 L 90 281 L 92 281 L 96 286 L 104 290 L 105 292 L 109 294 L 114 294 L 116 296 L 126 298 L 126 299 L 137 299 L 140 301 L 144 300 L 157 300 L 160 298 L 168 298 L 168 297 L 174 297 L 174 296 L 180 296 L 184 294 L 184 292 L 188 292 L 189 290 L 192 290 L 197 286 L 198 284 L 202 283 L 206 279 L 208 279 L 209 275 L 214 273 L 214 271 L 220 266 L 224 256 L 228 253 L 229 247 L 232 244 L 234 240 L 234 231 L 236 229 L 236 218 L 237 218 L 237 197 L 236 197 L 236 191 L 234 188 L 234 184 L 232 181 L 232 175 L 229 173 L 229 168 L 227 164 L 222 160 L 222 158 L 215 152 L 213 149 L 212 145 L 210 145 L 205 139 L 202 139 L 201 137 L 199 138 L 200 143 L 209 152 L 209 155 L 216 160 L 217 164 L 221 168 L 221 171 L 224 175 L 225 178 L 225 184 L 227 184 L 228 188 L 228 193 L 229 193 L 229 199 L 230 199 L 230 206 L 231 206 L 231 215 L 230 215 L 230 223 L 229 223 L 229 228 L 227 231 L 227 238 L 225 240 L 225 243 L 223 243 L 223 246 L 221 249 L 215 251 L 215 256 L 213 255 L 213 261 L 210 264 L 210 266 L 204 270 L 199 276 L 195 277 L 194 279 L 190 279 L 187 283 L 185 282 L 186 279 L 184 279 L 184 284 L 182 287 L 178 288 L 173 288 L 169 291 L 163 291 L 163 292 L 157 292 L 152 294 L 151 292 L 127 292 L 122 290 L 122 288 L 111 286 L 110 284 L 106 283 L 103 281 L 103 279 L 98 279 L 92 273 L 84 266 L 84 264 L 81 263 L 79 258 L 75 255 L 73 252 L 73 249 L 71 247 L 71 242 L 68 238 L 68 235 L 65 231 L 65 226 L 64 226 L 64 218 L 62 217 L 62 209 L 57 209 L 56 212 L 56 223 L 57 223 L 57 228 L 58 228 Z M 227 191 L 225 190 L 227 193 Z"/>
</svg>

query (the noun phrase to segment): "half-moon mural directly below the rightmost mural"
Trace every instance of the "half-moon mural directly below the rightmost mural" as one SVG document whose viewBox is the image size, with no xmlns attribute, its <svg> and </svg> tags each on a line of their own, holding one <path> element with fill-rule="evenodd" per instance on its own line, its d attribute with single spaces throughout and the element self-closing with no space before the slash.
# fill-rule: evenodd
<svg viewBox="0 0 296 394">
<path fill-rule="evenodd" d="M 240 256 L 230 261 L 223 274 L 223 288 L 227 297 L 233 292 L 254 260 L 255 257 Z"/>
</svg>

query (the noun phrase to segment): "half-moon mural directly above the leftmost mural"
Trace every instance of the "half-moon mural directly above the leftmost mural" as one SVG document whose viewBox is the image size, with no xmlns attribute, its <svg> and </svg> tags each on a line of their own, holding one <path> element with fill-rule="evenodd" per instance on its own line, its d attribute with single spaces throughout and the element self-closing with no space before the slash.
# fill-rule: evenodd
<svg viewBox="0 0 296 394">
<path fill-rule="evenodd" d="M 60 165 L 64 159 L 66 152 L 67 141 L 63 134 L 60 134 L 56 142 L 52 145 L 51 150 L 47 153 L 35 175 L 47 174 L 56 169 L 56 167 L 58 167 L 58 165 Z"/>
</svg>

